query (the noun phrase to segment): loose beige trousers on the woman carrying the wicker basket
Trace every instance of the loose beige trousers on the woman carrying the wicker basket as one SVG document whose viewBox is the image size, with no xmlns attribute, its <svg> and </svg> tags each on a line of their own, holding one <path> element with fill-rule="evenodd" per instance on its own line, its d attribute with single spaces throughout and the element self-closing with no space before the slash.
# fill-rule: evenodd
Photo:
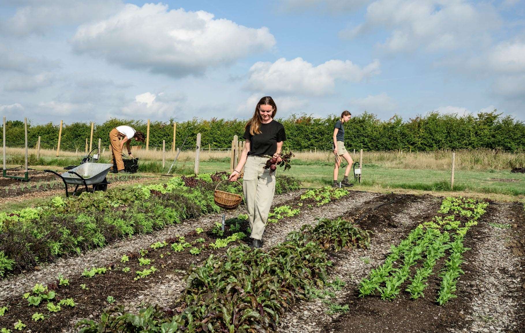
<svg viewBox="0 0 525 333">
<path fill-rule="evenodd" d="M 262 169 L 268 158 L 250 155 L 244 165 L 243 191 L 248 210 L 251 238 L 260 240 L 268 221 L 275 194 L 275 172 Z"/>
</svg>

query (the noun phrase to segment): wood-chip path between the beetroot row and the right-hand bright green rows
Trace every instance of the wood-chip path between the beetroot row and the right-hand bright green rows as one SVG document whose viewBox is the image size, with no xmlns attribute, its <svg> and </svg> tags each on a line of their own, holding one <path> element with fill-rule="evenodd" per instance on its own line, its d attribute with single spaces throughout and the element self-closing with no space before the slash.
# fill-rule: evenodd
<svg viewBox="0 0 525 333">
<path fill-rule="evenodd" d="M 332 301 L 337 303 L 338 299 L 343 299 L 359 288 L 361 279 L 366 277 L 372 268 L 383 264 L 386 255 L 390 252 L 390 245 L 397 244 L 401 237 L 406 235 L 418 222 L 414 220 L 414 217 L 432 211 L 436 201 L 439 199 L 428 197 L 423 202 L 408 204 L 392 219 L 398 226 L 397 228 L 374 230 L 368 249 L 345 249 L 339 253 L 334 259 L 332 278 L 340 278 L 346 283 L 346 286 L 335 292 L 336 297 Z M 328 315 L 325 312 L 326 309 L 327 305 L 323 304 L 322 299 L 319 298 L 300 302 L 281 318 L 278 331 L 292 333 L 328 331 L 323 326 L 329 325 L 339 315 Z"/>
</svg>

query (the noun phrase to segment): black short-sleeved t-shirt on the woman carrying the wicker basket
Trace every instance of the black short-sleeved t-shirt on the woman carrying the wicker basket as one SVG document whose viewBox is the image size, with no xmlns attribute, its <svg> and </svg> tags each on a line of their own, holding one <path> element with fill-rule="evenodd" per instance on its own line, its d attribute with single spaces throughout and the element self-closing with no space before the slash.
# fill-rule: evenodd
<svg viewBox="0 0 525 333">
<path fill-rule="evenodd" d="M 261 133 L 252 136 L 250 126 L 246 128 L 243 138 L 250 141 L 248 155 L 273 155 L 277 151 L 277 142 L 286 140 L 285 127 L 276 120 L 261 124 Z"/>
</svg>

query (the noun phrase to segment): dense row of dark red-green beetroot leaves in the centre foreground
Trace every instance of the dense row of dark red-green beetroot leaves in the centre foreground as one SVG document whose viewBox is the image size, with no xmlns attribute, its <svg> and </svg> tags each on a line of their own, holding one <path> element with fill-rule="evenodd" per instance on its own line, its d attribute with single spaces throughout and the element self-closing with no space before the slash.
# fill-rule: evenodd
<svg viewBox="0 0 525 333">
<path fill-rule="evenodd" d="M 108 308 L 98 322 L 81 321 L 80 332 L 274 331 L 283 311 L 327 285 L 329 251 L 364 248 L 369 240 L 367 231 L 337 218 L 305 225 L 268 252 L 230 247 L 193 267 L 169 308 L 151 305 L 138 315 L 122 305 Z"/>
</svg>

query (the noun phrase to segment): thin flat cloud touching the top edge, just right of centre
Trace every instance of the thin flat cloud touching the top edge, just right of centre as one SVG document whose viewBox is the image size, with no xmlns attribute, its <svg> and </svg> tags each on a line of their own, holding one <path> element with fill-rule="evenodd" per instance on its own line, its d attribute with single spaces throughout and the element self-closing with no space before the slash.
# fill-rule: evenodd
<svg viewBox="0 0 525 333">
<path fill-rule="evenodd" d="M 353 12 L 361 8 L 370 0 L 280 0 L 285 11 L 305 11 L 307 9 L 321 9 L 331 13 Z"/>
</svg>

